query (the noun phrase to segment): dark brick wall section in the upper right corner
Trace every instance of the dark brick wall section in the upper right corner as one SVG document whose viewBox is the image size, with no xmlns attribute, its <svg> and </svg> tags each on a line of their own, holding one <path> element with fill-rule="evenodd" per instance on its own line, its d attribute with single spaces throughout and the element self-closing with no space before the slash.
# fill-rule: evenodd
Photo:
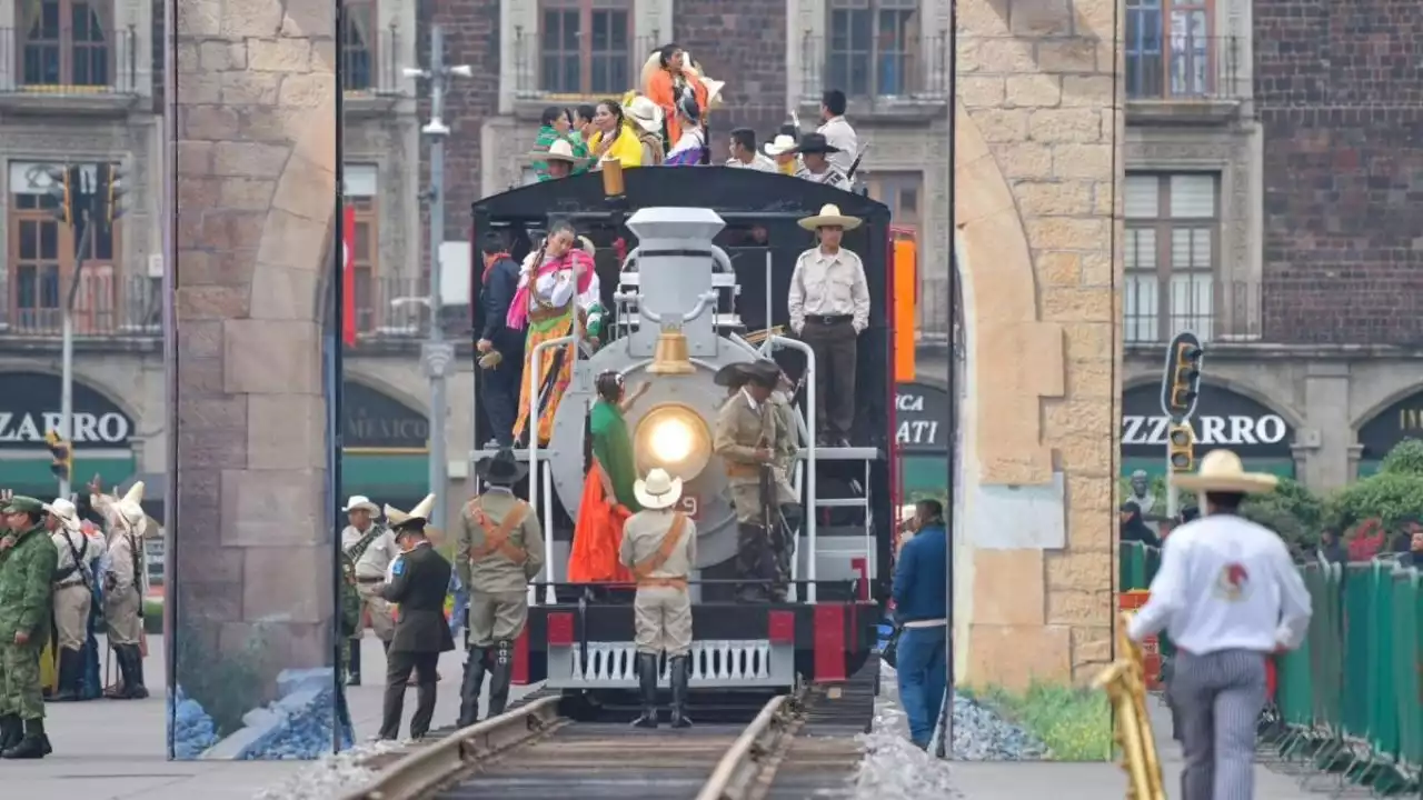
<svg viewBox="0 0 1423 800">
<path fill-rule="evenodd" d="M 1423 342 L 1423 16 L 1409 0 L 1259 0 L 1271 342 Z"/>
</svg>

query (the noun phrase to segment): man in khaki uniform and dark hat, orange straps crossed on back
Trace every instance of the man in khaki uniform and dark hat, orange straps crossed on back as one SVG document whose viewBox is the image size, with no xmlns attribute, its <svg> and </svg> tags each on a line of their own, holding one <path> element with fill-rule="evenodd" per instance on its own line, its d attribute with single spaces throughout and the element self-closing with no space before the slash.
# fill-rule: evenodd
<svg viewBox="0 0 1423 800">
<path fill-rule="evenodd" d="M 480 715 L 484 673 L 490 673 L 490 713 L 504 713 L 509 700 L 514 641 L 528 621 L 528 584 L 544 568 L 544 528 L 528 502 L 514 497 L 514 484 L 528 473 L 509 450 L 475 465 L 484 494 L 460 514 L 460 581 L 470 589 L 470 623 L 460 688 L 460 725 Z M 490 665 L 492 655 L 494 663 Z"/>
</svg>

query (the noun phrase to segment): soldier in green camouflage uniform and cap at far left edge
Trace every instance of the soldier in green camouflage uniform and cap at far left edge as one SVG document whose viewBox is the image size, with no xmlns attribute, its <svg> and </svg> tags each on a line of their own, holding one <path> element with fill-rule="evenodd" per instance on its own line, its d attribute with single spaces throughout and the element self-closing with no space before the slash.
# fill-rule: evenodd
<svg viewBox="0 0 1423 800">
<path fill-rule="evenodd" d="M 0 541 L 0 757 L 43 759 L 50 753 L 44 735 L 44 695 L 40 655 L 50 638 L 54 568 L 58 551 L 44 530 L 44 504 L 14 497 L 3 514 L 10 534 Z"/>
</svg>

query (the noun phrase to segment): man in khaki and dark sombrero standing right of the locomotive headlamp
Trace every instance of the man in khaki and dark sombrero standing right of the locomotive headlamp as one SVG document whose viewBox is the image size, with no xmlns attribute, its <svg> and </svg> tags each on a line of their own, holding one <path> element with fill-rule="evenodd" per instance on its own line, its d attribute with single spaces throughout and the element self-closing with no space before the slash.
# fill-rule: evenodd
<svg viewBox="0 0 1423 800">
<path fill-rule="evenodd" d="M 743 581 L 736 595 L 743 602 L 764 602 L 767 584 L 777 578 L 770 541 L 770 502 L 774 498 L 761 491 L 763 470 L 768 471 L 776 460 L 771 451 L 776 416 L 767 403 L 776 379 L 754 367 L 741 374 L 746 383 L 717 413 L 713 448 L 726 464 L 736 510 L 736 574 Z"/>
</svg>

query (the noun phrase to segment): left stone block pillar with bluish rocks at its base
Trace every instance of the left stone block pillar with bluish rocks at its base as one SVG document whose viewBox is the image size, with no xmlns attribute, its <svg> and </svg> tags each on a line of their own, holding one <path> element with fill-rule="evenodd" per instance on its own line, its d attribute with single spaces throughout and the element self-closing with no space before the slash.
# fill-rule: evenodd
<svg viewBox="0 0 1423 800">
<path fill-rule="evenodd" d="M 176 9 L 171 680 L 216 727 L 192 733 L 179 713 L 176 757 L 332 749 L 320 298 L 334 233 L 334 4 L 320 0 Z M 297 686 L 319 689 L 314 703 L 293 706 L 310 699 Z M 242 719 L 275 700 L 305 729 Z"/>
</svg>

